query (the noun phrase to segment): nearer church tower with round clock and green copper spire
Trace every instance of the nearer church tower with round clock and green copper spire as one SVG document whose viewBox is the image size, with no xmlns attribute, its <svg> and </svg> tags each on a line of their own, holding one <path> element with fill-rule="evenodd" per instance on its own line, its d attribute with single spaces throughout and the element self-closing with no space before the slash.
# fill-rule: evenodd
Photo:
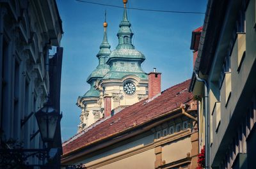
<svg viewBox="0 0 256 169">
<path fill-rule="evenodd" d="M 124 14 L 117 33 L 118 45 L 109 55 L 108 73 L 97 84 L 104 98 L 105 117 L 147 98 L 148 75 L 141 68 L 145 56 L 134 49 L 131 23 L 127 18 L 127 0 L 123 2 Z M 113 111 L 115 108 L 118 110 Z"/>
</svg>

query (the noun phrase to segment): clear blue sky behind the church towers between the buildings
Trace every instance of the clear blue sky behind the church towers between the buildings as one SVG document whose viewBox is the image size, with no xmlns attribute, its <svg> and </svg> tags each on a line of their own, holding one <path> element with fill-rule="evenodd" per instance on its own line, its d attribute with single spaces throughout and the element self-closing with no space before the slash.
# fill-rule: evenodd
<svg viewBox="0 0 256 169">
<path fill-rule="evenodd" d="M 87 0 L 96 3 L 123 6 L 122 0 Z M 75 0 L 57 0 L 63 21 L 63 51 L 61 77 L 61 135 L 67 140 L 76 134 L 80 108 L 77 97 L 83 95 L 90 85 L 86 78 L 98 64 L 97 53 L 102 42 L 104 11 L 107 11 L 108 41 L 114 50 L 118 39 L 118 25 L 123 9 Z M 152 10 L 205 12 L 206 0 L 128 0 L 128 7 Z M 128 19 L 134 32 L 133 44 L 146 60 L 145 72 L 153 68 L 162 73 L 162 91 L 191 78 L 193 53 L 189 50 L 191 32 L 204 23 L 202 14 L 161 13 L 128 10 Z"/>
</svg>

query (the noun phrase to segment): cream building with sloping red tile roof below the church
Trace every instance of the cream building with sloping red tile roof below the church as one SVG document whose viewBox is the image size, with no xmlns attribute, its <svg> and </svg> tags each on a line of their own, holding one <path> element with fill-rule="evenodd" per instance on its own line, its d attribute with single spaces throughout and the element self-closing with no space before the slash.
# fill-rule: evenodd
<svg viewBox="0 0 256 169">
<path fill-rule="evenodd" d="M 148 73 L 149 81 L 151 77 L 157 77 L 154 81 L 160 84 L 159 73 Z M 63 143 L 61 164 L 82 164 L 84 168 L 196 168 L 197 109 L 188 92 L 189 82 L 152 94 L 152 98 L 73 136 Z"/>
</svg>

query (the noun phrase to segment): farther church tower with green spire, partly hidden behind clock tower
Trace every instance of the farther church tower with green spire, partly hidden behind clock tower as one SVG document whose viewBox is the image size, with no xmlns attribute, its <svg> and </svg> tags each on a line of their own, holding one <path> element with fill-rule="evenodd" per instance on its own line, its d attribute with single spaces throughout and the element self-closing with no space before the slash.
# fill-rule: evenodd
<svg viewBox="0 0 256 169">
<path fill-rule="evenodd" d="M 108 23 L 106 22 L 106 13 L 103 27 L 103 40 L 100 45 L 100 51 L 97 54 L 97 57 L 99 59 L 99 65 L 95 70 L 93 70 L 93 72 L 86 80 L 86 82 L 90 84 L 90 90 L 87 91 L 83 96 L 79 96 L 77 99 L 77 106 L 82 109 L 78 131 L 82 131 L 84 128 L 87 128 L 88 126 L 99 120 L 101 117 L 103 117 L 102 106 L 99 103 L 100 91 L 95 89 L 95 84 L 97 80 L 104 77 L 104 75 L 106 75 L 106 73 L 109 71 L 109 65 L 106 64 L 106 61 L 108 60 L 108 56 L 111 51 L 107 37 Z"/>
</svg>

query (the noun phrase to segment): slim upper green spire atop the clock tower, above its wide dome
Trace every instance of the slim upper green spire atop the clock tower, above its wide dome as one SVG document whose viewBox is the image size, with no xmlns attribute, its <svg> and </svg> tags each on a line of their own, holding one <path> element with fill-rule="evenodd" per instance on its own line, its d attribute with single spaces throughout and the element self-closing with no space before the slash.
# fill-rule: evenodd
<svg viewBox="0 0 256 169">
<path fill-rule="evenodd" d="M 132 45 L 132 30 L 131 30 L 131 23 L 127 18 L 127 10 L 126 10 L 126 3 L 127 0 L 123 0 L 124 3 L 124 14 L 123 19 L 119 24 L 119 31 L 116 34 L 118 36 L 119 43 L 116 49 L 127 48 L 127 49 L 134 49 Z"/>
</svg>

